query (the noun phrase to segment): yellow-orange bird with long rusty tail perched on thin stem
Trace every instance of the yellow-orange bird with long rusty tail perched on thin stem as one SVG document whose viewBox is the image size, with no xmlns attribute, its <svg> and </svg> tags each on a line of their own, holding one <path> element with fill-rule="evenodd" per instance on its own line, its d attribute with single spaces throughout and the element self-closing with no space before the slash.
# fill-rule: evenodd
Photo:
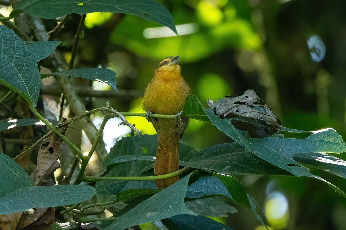
<svg viewBox="0 0 346 230">
<path fill-rule="evenodd" d="M 179 140 L 188 127 L 189 118 L 182 117 L 185 98 L 191 92 L 181 75 L 180 56 L 167 57 L 158 64 L 154 77 L 144 92 L 143 109 L 158 136 L 154 175 L 179 169 Z M 172 118 L 152 118 L 152 114 L 176 115 Z M 167 188 L 179 176 L 155 180 L 157 188 Z"/>
</svg>

